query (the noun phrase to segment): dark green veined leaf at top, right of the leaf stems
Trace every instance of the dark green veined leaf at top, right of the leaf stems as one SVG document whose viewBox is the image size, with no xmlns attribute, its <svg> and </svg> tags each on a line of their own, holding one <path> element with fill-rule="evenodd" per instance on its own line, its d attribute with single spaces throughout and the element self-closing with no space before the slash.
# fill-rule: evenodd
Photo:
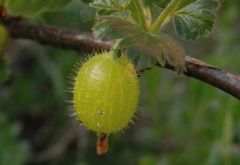
<svg viewBox="0 0 240 165">
<path fill-rule="evenodd" d="M 182 0 L 173 16 L 177 34 L 183 39 L 197 40 L 208 36 L 215 23 L 217 0 Z"/>
</svg>

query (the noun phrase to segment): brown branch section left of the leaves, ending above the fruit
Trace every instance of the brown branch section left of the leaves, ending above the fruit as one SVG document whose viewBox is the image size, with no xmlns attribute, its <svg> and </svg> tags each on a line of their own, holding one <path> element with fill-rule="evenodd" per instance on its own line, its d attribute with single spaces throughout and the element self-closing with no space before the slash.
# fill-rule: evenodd
<svg viewBox="0 0 240 165">
<path fill-rule="evenodd" d="M 111 49 L 110 43 L 97 40 L 91 34 L 79 35 L 71 30 L 28 24 L 20 17 L 6 15 L 1 6 L 0 24 L 8 29 L 13 38 L 30 39 L 42 44 L 84 52 Z"/>
</svg>

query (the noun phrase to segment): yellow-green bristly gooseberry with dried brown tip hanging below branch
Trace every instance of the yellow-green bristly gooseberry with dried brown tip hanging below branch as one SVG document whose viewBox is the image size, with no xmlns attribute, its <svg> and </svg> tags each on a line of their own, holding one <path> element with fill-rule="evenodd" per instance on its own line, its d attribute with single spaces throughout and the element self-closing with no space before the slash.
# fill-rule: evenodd
<svg viewBox="0 0 240 165">
<path fill-rule="evenodd" d="M 138 97 L 136 70 L 125 55 L 117 56 L 114 51 L 95 54 L 79 69 L 74 83 L 74 109 L 77 119 L 98 133 L 98 154 L 107 151 L 107 136 L 131 121 Z"/>
</svg>

